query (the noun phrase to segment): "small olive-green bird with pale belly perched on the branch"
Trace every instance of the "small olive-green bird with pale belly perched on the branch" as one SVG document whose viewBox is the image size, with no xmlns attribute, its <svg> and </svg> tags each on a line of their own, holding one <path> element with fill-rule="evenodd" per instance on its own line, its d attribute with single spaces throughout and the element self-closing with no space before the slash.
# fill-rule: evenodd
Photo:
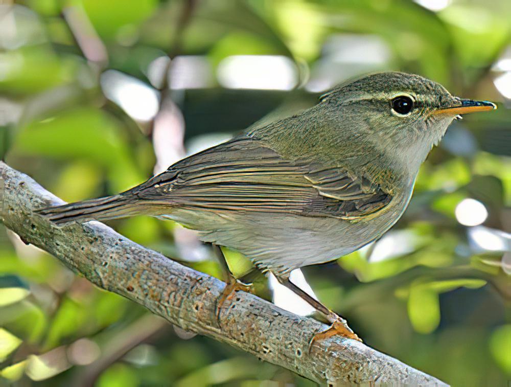
<svg viewBox="0 0 511 387">
<path fill-rule="evenodd" d="M 342 317 L 290 282 L 290 272 L 380 238 L 405 211 L 419 167 L 449 124 L 496 108 L 418 75 L 371 74 L 126 192 L 39 213 L 57 224 L 138 214 L 172 219 L 197 230 L 221 258 L 219 246 L 241 252 L 324 313 L 332 326 L 313 339 L 358 339 Z M 228 284 L 226 294 L 244 288 L 234 277 Z"/>
</svg>

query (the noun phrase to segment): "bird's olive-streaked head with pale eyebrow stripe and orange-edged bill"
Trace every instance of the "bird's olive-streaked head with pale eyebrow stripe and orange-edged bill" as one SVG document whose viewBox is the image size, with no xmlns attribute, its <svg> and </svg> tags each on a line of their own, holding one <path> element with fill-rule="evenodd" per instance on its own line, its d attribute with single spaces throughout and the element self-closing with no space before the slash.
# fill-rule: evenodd
<svg viewBox="0 0 511 387">
<path fill-rule="evenodd" d="M 341 84 L 324 94 L 321 104 L 338 111 L 354 135 L 364 130 L 365 139 L 398 152 L 405 162 L 419 164 L 454 119 L 497 108 L 492 102 L 452 96 L 436 82 L 398 72 L 370 74 Z"/>
</svg>

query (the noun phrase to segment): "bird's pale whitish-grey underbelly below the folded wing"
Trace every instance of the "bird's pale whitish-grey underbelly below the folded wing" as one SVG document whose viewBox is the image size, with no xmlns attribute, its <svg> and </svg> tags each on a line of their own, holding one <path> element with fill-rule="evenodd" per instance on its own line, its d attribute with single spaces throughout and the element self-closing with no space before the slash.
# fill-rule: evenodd
<svg viewBox="0 0 511 387">
<path fill-rule="evenodd" d="M 394 208 L 373 219 L 356 222 L 328 217 L 182 208 L 162 217 L 197 230 L 204 242 L 233 248 L 259 268 L 286 276 L 296 268 L 329 262 L 356 251 L 379 238 L 397 221 L 401 212 Z"/>
</svg>

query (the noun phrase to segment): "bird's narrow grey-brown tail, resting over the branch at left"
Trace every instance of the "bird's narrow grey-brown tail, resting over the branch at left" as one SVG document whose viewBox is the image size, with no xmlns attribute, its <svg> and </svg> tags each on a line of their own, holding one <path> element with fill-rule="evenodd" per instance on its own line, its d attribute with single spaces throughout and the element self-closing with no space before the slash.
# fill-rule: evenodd
<svg viewBox="0 0 511 387">
<path fill-rule="evenodd" d="M 56 224 L 63 224 L 74 221 L 81 223 L 89 220 L 124 218 L 142 213 L 143 208 L 140 200 L 136 200 L 134 195 L 130 195 L 128 191 L 99 199 L 47 207 L 37 210 L 37 213 Z"/>
</svg>

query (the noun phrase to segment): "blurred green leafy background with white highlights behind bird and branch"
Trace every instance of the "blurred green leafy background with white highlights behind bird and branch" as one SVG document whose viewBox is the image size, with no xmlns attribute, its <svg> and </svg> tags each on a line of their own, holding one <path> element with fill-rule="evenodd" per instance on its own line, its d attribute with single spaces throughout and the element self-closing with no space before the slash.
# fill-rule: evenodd
<svg viewBox="0 0 511 387">
<path fill-rule="evenodd" d="M 3 0 L 0 156 L 74 201 L 130 188 L 367 72 L 417 73 L 495 101 L 451 125 L 380 241 L 293 276 L 369 346 L 452 385 L 507 385 L 509 20 L 508 0 Z M 210 249 L 170 221 L 109 224 L 220 275 Z M 250 266 L 228 258 L 237 274 Z M 310 312 L 271 279 L 256 285 Z M 173 328 L 2 224 L 0 375 L 17 386 L 314 385 Z"/>
</svg>

